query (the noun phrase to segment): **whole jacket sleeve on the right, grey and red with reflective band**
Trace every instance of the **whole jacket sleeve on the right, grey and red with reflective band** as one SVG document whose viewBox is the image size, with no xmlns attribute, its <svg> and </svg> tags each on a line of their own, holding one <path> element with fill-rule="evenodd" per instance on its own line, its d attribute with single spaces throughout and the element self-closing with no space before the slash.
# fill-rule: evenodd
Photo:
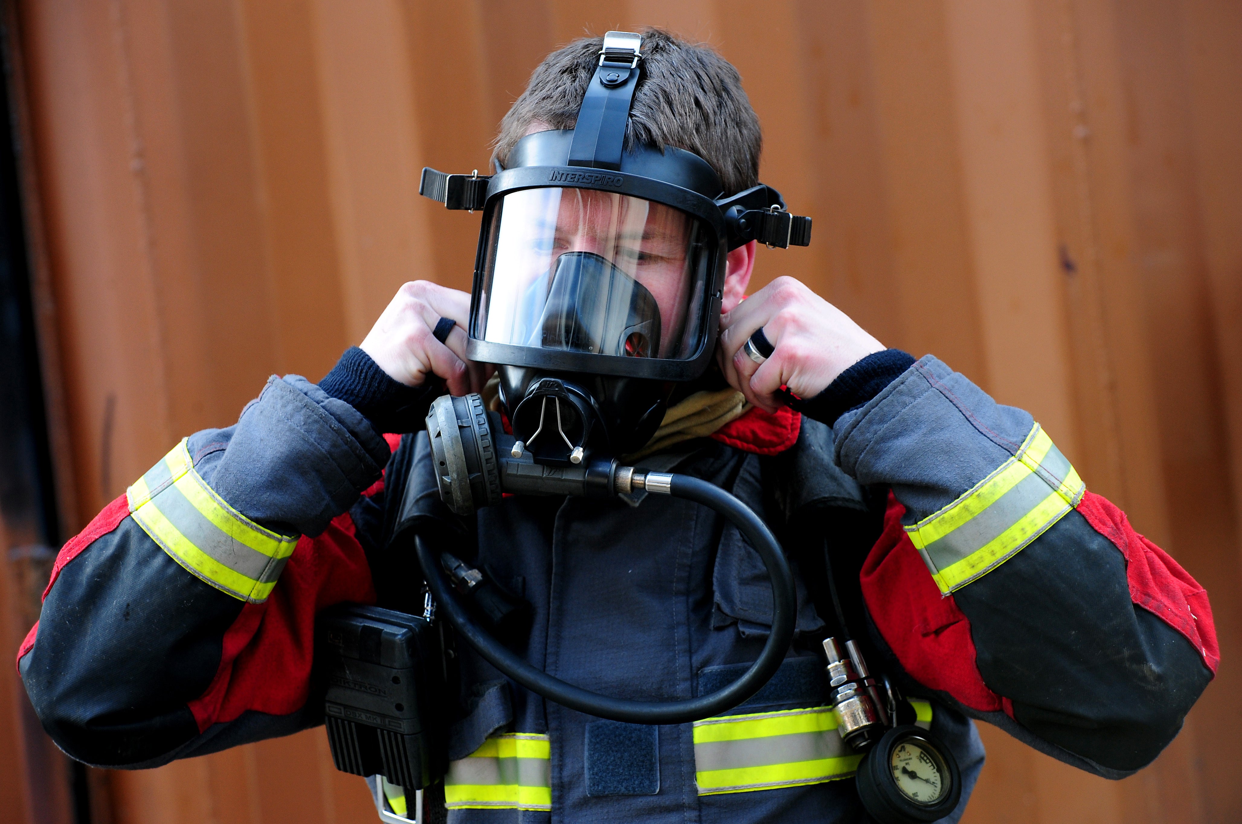
<svg viewBox="0 0 1242 824">
<path fill-rule="evenodd" d="M 1206 594 L 1030 414 L 928 355 L 833 434 L 892 490 L 862 584 L 912 677 L 1103 776 L 1159 754 L 1218 660 Z"/>
</svg>

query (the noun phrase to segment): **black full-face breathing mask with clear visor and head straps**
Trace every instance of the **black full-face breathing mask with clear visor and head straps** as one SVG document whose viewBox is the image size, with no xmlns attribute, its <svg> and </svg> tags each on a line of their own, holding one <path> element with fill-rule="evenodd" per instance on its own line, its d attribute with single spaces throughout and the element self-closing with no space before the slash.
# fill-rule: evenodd
<svg viewBox="0 0 1242 824">
<path fill-rule="evenodd" d="M 770 186 L 725 198 L 691 152 L 623 150 L 640 47 L 609 32 L 575 128 L 528 134 L 496 174 L 424 170 L 422 194 L 483 211 L 467 355 L 497 364 L 513 433 L 544 464 L 641 449 L 673 384 L 712 359 L 727 254 L 810 242 Z"/>
</svg>

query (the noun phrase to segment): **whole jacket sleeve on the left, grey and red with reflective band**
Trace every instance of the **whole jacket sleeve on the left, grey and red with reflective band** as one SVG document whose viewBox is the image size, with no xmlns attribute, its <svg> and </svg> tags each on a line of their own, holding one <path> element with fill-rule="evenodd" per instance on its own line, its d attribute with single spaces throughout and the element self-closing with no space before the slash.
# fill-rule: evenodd
<svg viewBox="0 0 1242 824">
<path fill-rule="evenodd" d="M 296 375 L 174 447 L 57 559 L 19 654 L 53 741 L 154 767 L 319 722 L 314 611 L 373 592 L 358 542 L 329 522 L 388 459 L 361 415 Z"/>
</svg>

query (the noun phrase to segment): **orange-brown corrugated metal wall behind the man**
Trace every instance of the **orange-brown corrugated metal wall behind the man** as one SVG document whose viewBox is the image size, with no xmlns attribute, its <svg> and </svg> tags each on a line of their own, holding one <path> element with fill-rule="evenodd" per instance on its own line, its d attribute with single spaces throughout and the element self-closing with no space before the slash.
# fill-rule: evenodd
<svg viewBox="0 0 1242 824">
<path fill-rule="evenodd" d="M 1242 820 L 1236 0 L 27 0 L 10 22 L 70 532 L 270 373 L 322 377 L 402 281 L 468 288 L 478 217 L 421 200 L 421 167 L 483 170 L 558 43 L 663 25 L 739 67 L 763 179 L 815 219 L 758 281 L 1032 410 L 1212 594 L 1220 676 L 1155 766 L 1108 783 L 985 728 L 966 820 Z M 118 824 L 370 815 L 320 731 L 104 783 Z M 0 822 L 35 820 L 12 792 Z"/>
</svg>

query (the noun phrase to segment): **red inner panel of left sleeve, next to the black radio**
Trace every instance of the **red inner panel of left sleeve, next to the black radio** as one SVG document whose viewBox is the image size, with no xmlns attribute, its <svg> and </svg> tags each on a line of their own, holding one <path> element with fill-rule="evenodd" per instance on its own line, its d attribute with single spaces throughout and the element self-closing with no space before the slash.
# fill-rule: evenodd
<svg viewBox="0 0 1242 824">
<path fill-rule="evenodd" d="M 345 602 L 374 604 L 375 588 L 349 513 L 298 541 L 262 604 L 246 604 L 225 633 L 211 686 L 189 703 L 199 731 L 247 710 L 289 715 L 307 701 L 315 614 Z"/>
</svg>

